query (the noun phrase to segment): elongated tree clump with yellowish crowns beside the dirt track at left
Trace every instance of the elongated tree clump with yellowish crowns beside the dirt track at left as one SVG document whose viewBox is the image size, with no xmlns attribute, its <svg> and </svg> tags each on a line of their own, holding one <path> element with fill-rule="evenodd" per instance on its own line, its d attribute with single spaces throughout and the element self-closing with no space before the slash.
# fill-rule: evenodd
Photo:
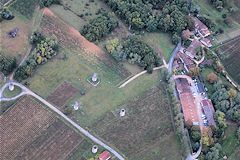
<svg viewBox="0 0 240 160">
<path fill-rule="evenodd" d="M 45 38 L 42 34 L 35 32 L 31 36 L 31 43 L 35 48 L 26 62 L 17 69 L 14 75 L 17 81 L 30 77 L 38 65 L 46 63 L 47 60 L 57 54 L 58 44 L 56 39 Z"/>
</svg>

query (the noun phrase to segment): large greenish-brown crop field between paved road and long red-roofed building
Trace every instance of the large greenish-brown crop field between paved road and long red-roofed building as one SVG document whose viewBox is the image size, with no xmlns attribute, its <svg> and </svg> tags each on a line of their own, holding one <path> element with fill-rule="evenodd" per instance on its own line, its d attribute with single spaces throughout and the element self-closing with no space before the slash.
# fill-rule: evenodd
<svg viewBox="0 0 240 160">
<path fill-rule="evenodd" d="M 92 130 L 129 160 L 178 159 L 181 153 L 173 133 L 164 85 L 104 114 L 92 125 Z M 122 108 L 126 116 L 120 118 Z"/>
</svg>

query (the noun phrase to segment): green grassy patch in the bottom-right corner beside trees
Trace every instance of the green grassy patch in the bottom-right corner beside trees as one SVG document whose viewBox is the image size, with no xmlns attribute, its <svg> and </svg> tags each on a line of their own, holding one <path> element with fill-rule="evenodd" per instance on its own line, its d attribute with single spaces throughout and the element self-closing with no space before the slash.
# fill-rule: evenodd
<svg viewBox="0 0 240 160">
<path fill-rule="evenodd" d="M 226 139 L 223 140 L 222 148 L 223 152 L 232 159 L 237 159 L 239 157 L 240 146 L 237 143 L 238 139 L 236 136 L 237 125 L 236 124 L 228 124 L 228 128 L 226 130 Z M 238 156 L 237 156 L 238 155 Z"/>
</svg>

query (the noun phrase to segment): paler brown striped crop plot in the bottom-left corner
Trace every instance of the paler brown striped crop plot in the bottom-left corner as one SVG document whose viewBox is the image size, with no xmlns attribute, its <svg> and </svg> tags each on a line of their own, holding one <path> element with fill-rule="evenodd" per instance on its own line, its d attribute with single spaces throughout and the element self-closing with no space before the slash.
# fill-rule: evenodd
<svg viewBox="0 0 240 160">
<path fill-rule="evenodd" d="M 3 159 L 14 159 L 54 121 L 51 113 L 30 97 L 20 99 L 0 118 Z"/>
</svg>

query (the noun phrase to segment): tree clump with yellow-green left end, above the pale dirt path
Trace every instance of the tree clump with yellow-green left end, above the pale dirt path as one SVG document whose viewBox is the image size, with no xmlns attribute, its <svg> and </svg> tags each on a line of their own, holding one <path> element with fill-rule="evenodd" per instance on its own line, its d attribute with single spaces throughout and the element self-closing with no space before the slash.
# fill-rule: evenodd
<svg viewBox="0 0 240 160">
<path fill-rule="evenodd" d="M 141 41 L 139 37 L 130 36 L 124 41 L 113 39 L 107 42 L 106 49 L 117 61 L 128 61 L 131 64 L 138 64 L 146 69 L 149 73 L 152 72 L 155 66 L 162 64 L 157 53 Z"/>
</svg>

